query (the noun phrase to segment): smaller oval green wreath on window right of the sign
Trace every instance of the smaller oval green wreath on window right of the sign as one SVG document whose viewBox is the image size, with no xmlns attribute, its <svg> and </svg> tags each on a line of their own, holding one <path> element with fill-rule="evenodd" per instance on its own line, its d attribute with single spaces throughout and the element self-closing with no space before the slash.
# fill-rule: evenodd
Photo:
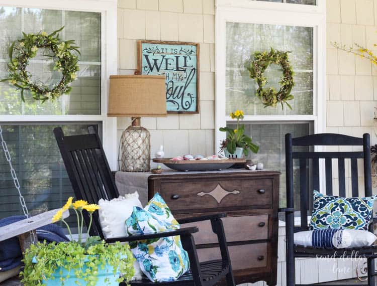
<svg viewBox="0 0 377 286">
<path fill-rule="evenodd" d="M 289 52 L 275 51 L 273 48 L 267 52 L 255 52 L 254 61 L 247 67 L 250 77 L 255 79 L 258 84 L 256 96 L 258 96 L 262 103 L 267 106 L 275 107 L 277 103 L 284 107 L 284 103 L 292 109 L 292 106 L 287 102 L 293 99 L 291 94 L 292 88 L 295 86 L 293 81 L 293 69 L 288 59 Z M 280 65 L 282 67 L 283 76 L 279 81 L 280 89 L 276 91 L 273 87 L 264 88 L 267 84 L 267 78 L 263 75 L 264 71 L 270 64 Z"/>
</svg>

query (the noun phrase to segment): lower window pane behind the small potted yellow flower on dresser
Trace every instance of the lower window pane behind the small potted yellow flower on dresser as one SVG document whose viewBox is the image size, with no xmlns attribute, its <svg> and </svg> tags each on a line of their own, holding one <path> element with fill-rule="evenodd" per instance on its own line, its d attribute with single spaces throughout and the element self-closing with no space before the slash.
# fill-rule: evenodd
<svg viewBox="0 0 377 286">
<path fill-rule="evenodd" d="M 232 129 L 236 128 L 235 124 L 228 124 Z M 287 190 L 286 190 L 286 149 L 285 135 L 291 133 L 293 137 L 305 136 L 313 133 L 311 123 L 258 123 L 245 124 L 245 133 L 252 137 L 253 142 L 259 146 L 257 154 L 250 154 L 249 159 L 253 163 L 261 162 L 264 169 L 281 172 L 280 189 L 279 189 L 279 205 L 286 207 Z M 309 151 L 307 147 L 295 148 L 295 151 Z M 297 160 L 294 160 L 294 193 L 295 208 L 300 207 L 300 184 L 299 166 Z"/>
</svg>

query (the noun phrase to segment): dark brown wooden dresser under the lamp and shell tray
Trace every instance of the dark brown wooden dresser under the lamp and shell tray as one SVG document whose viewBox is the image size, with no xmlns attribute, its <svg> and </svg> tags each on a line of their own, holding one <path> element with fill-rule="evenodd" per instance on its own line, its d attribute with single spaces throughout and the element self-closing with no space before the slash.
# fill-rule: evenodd
<svg viewBox="0 0 377 286">
<path fill-rule="evenodd" d="M 223 219 L 236 283 L 276 284 L 279 175 L 273 171 L 148 176 L 148 197 L 159 192 L 175 218 L 226 212 Z M 200 260 L 220 258 L 210 222 L 196 223 Z M 188 226 L 188 225 L 185 225 Z"/>
</svg>

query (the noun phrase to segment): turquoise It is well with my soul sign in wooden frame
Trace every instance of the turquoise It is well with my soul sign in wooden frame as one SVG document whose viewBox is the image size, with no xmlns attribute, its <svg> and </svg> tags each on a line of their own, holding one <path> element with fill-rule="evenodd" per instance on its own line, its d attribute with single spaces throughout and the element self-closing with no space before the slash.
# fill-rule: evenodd
<svg viewBox="0 0 377 286">
<path fill-rule="evenodd" d="M 199 112 L 199 44 L 138 41 L 138 70 L 166 76 L 168 113 Z"/>
</svg>

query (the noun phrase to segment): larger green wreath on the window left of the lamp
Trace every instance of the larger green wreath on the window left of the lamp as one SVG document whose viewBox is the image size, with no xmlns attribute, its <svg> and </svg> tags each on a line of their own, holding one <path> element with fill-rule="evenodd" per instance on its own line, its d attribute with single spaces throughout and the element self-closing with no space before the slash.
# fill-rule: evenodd
<svg viewBox="0 0 377 286">
<path fill-rule="evenodd" d="M 10 84 L 21 90 L 21 99 L 25 101 L 24 91 L 29 90 L 32 97 L 41 100 L 42 103 L 48 99 L 55 99 L 62 94 L 69 93 L 72 87 L 69 83 L 76 79 L 76 72 L 79 70 L 78 58 L 72 52 L 80 54 L 74 40 L 62 41 L 59 32 L 64 27 L 48 35 L 46 32 L 38 34 L 23 34 L 23 38 L 16 40 L 9 47 L 8 63 L 9 75 L 2 81 L 9 81 Z M 31 74 L 26 70 L 29 60 L 37 55 L 39 48 L 50 49 L 53 55 L 44 55 L 54 60 L 54 70 L 62 73 L 59 83 L 52 88 L 41 81 L 32 81 Z"/>
</svg>

